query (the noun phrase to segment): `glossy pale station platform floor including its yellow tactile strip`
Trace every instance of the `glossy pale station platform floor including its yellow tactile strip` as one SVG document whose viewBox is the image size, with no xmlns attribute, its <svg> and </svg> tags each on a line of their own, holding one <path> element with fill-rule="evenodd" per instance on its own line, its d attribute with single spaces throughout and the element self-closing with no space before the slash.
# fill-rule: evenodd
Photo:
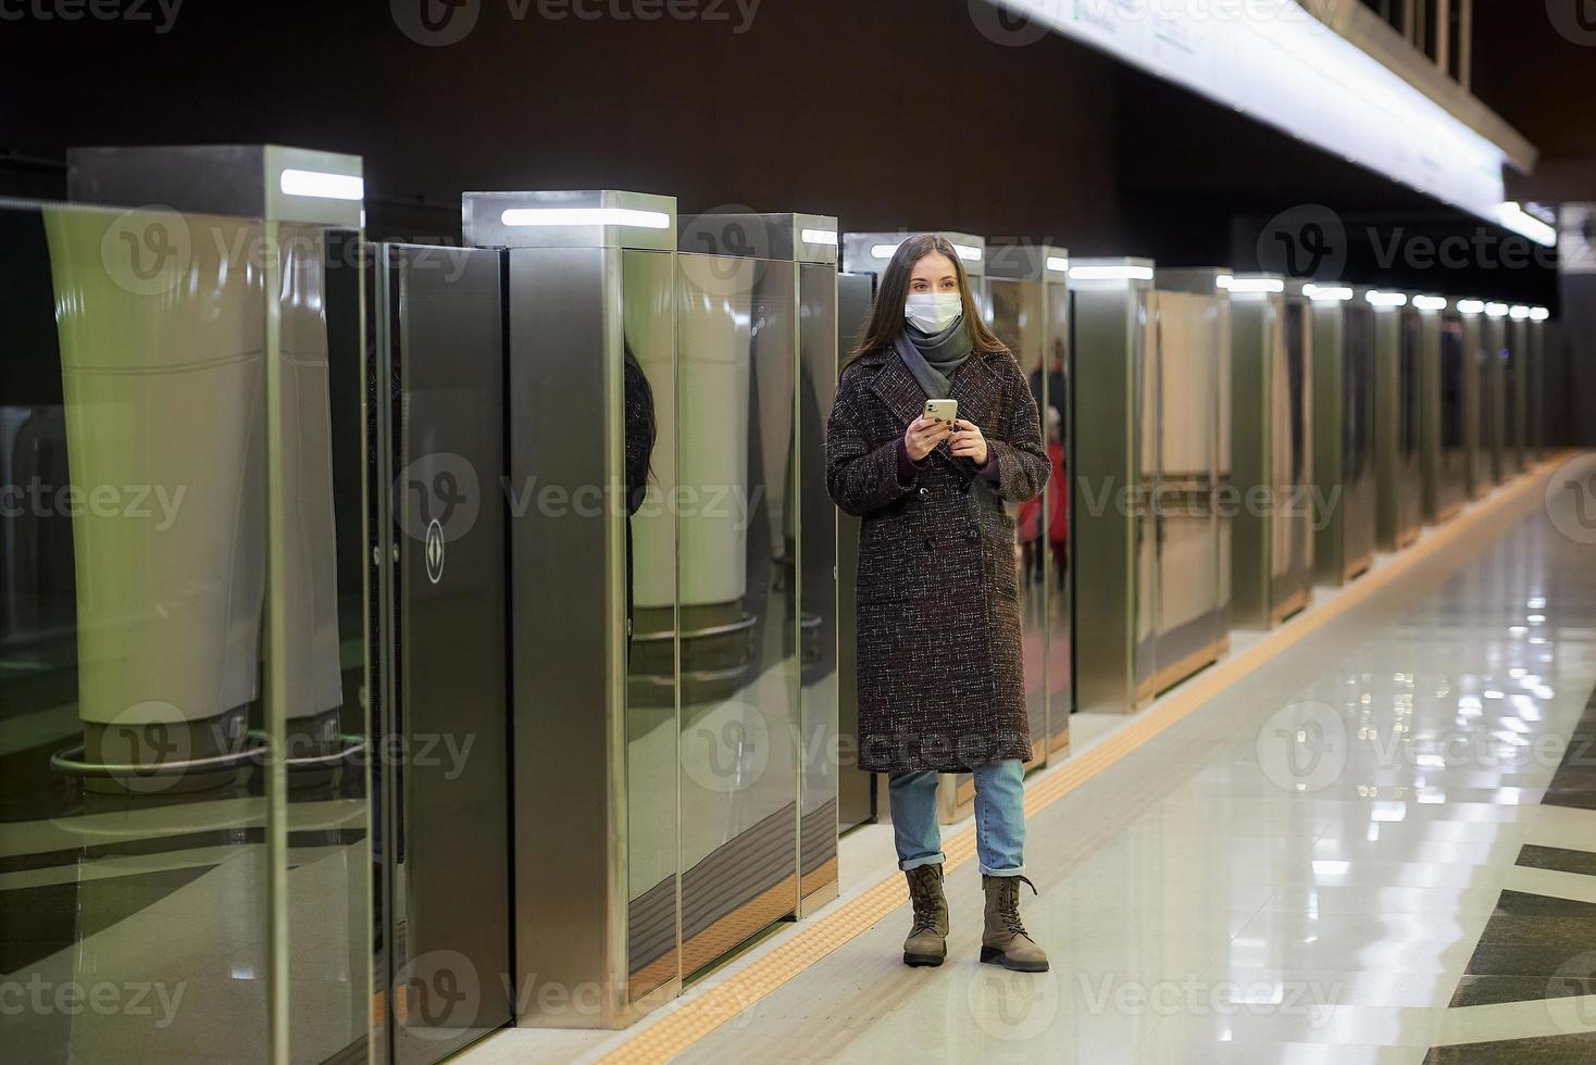
<svg viewBox="0 0 1596 1065">
<path fill-rule="evenodd" d="M 1567 485 L 1574 489 L 1566 491 Z M 1596 1062 L 1596 456 L 1559 454 L 1028 781 L 1044 974 L 905 968 L 887 826 L 841 898 L 626 1032 L 456 1060 Z"/>
</svg>

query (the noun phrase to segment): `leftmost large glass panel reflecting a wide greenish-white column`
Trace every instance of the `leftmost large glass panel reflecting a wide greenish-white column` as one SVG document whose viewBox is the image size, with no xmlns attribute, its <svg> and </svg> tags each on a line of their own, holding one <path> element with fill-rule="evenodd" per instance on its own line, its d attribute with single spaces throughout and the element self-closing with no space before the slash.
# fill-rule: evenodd
<svg viewBox="0 0 1596 1065">
<path fill-rule="evenodd" d="M 0 1012 L 14 1060 L 267 1054 L 260 238 L 0 209 L 0 969 L 45 990 Z M 54 1008 L 89 996 L 128 1008 Z"/>
</svg>

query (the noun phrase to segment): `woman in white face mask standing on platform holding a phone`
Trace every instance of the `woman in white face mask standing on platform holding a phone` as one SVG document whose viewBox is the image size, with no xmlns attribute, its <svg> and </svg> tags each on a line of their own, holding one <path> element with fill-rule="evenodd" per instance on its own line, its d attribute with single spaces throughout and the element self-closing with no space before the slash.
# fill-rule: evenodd
<svg viewBox="0 0 1596 1065">
<path fill-rule="evenodd" d="M 927 397 L 956 399 L 958 421 L 924 418 Z M 1049 461 L 1025 375 L 982 324 L 943 238 L 910 238 L 881 274 L 825 446 L 832 497 L 862 518 L 859 767 L 891 775 L 899 867 L 915 906 L 903 961 L 946 957 L 937 773 L 970 772 L 986 893 L 982 961 L 1047 969 L 1020 923 L 1031 737 L 1004 502 L 1041 493 Z"/>
</svg>

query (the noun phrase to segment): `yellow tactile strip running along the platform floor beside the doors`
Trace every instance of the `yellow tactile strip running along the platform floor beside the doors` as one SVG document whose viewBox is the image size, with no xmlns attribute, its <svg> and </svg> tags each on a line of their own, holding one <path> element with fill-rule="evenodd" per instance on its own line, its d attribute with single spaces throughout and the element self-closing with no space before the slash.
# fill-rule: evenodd
<svg viewBox="0 0 1596 1065">
<path fill-rule="evenodd" d="M 1050 772 L 1028 784 L 1025 791 L 1026 816 L 1033 816 L 1044 807 L 1058 802 L 1282 650 L 1336 617 L 1341 617 L 1353 606 L 1358 606 L 1419 563 L 1444 550 L 1472 526 L 1516 501 L 1532 486 L 1539 486 L 1542 478 L 1550 475 L 1570 454 L 1574 453 L 1555 454 L 1539 466 L 1531 467 L 1516 481 L 1478 502 L 1460 520 L 1430 529 L 1430 534 L 1416 547 L 1396 555 L 1389 564 L 1347 585 L 1329 603 L 1298 614 L 1293 620 L 1264 636 L 1251 649 L 1186 681 L 1170 692 L 1162 703 L 1143 713 L 1111 738 L 1085 754 L 1071 757 L 1058 772 Z M 945 839 L 942 850 L 946 855 L 946 872 L 953 872 L 975 856 L 975 827 L 970 826 L 951 839 Z M 718 984 L 705 987 L 702 993 L 683 1000 L 677 1006 L 667 1008 L 669 1011 L 654 1024 L 638 1030 L 600 1060 L 616 1063 L 669 1062 L 825 955 L 902 907 L 907 901 L 908 888 L 902 877 L 894 875 L 883 880 L 832 914 L 816 920 L 809 928 L 774 947 L 745 969 L 726 976 Z"/>
</svg>

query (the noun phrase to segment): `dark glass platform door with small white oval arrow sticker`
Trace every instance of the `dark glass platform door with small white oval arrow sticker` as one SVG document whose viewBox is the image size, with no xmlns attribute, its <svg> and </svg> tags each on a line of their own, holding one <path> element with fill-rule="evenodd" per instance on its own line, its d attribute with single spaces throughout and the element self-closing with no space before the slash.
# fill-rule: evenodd
<svg viewBox="0 0 1596 1065">
<path fill-rule="evenodd" d="M 370 596 L 385 670 L 367 700 L 381 753 L 373 898 L 386 901 L 373 1039 L 396 1062 L 434 1062 L 511 1019 L 504 430 L 484 416 L 504 400 L 501 257 L 448 249 L 442 269 L 436 247 L 370 252 L 369 379 L 388 383 L 373 389 L 369 446 L 381 466 L 372 550 L 388 563 Z M 348 273 L 329 274 L 329 330 L 358 309 L 334 287 Z M 335 410 L 340 451 L 359 411 Z M 342 566 L 340 553 L 340 582 Z"/>
</svg>

